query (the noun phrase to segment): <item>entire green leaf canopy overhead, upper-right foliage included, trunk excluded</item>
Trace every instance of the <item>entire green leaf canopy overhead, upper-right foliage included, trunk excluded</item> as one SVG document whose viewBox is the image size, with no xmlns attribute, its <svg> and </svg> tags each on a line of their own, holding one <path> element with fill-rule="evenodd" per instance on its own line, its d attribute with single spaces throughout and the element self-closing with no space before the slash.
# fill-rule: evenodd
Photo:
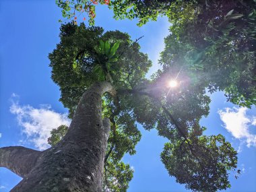
<svg viewBox="0 0 256 192">
<path fill-rule="evenodd" d="M 90 3 L 77 2 L 82 7 Z M 103 108 L 104 116 L 112 119 L 107 150 L 114 164 L 125 152 L 135 153 L 135 143 L 141 137 L 135 125 L 138 122 L 169 139 L 161 159 L 178 183 L 193 191 L 226 189 L 230 187 L 228 170 L 236 168 L 236 151 L 222 135 L 203 135 L 206 128 L 199 120 L 209 113 L 207 91 L 222 90 L 228 101 L 239 106 L 256 104 L 255 5 L 256 1 L 238 0 L 110 1 L 108 7 L 115 18 L 138 18 L 139 26 L 158 16 L 168 17 L 170 34 L 160 57 L 163 69 L 146 79 L 151 63 L 127 34 L 103 34 L 101 28 L 75 26 L 75 22 L 63 25 L 61 43 L 50 55 L 61 102 L 71 117 L 84 89 L 95 81 L 110 80 L 117 98 L 106 95 Z M 70 11 L 67 7 L 63 10 Z M 109 49 L 119 44 L 113 62 L 108 62 L 106 53 L 97 52 L 106 44 Z M 105 59 L 99 62 L 97 57 Z M 99 77 L 102 71 L 95 73 L 96 66 L 105 71 L 104 77 Z M 170 79 L 179 82 L 179 90 L 167 86 Z M 127 138 L 125 146 L 130 140 L 134 145 L 127 150 L 117 137 Z"/>
</svg>

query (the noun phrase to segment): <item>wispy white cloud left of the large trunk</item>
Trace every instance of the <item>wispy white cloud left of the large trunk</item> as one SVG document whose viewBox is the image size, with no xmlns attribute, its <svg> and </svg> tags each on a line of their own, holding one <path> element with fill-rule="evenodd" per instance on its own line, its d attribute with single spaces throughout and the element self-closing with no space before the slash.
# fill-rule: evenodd
<svg viewBox="0 0 256 192">
<path fill-rule="evenodd" d="M 13 94 L 13 97 L 17 97 L 17 95 Z M 10 112 L 16 115 L 22 132 L 38 150 L 49 148 L 47 139 L 53 128 L 70 124 L 67 114 L 56 113 L 50 105 L 34 108 L 30 105 L 21 106 L 18 102 L 12 101 Z"/>
</svg>

